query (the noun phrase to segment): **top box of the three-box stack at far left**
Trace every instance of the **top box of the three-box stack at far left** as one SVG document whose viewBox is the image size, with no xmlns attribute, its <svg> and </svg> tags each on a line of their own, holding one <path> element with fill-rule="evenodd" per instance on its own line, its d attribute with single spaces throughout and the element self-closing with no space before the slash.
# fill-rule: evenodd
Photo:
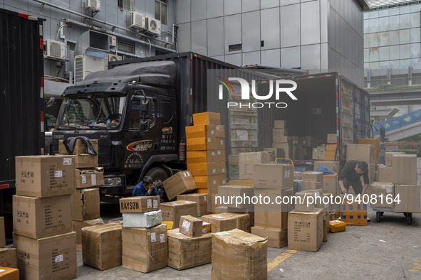
<svg viewBox="0 0 421 280">
<path fill-rule="evenodd" d="M 16 195 L 71 195 L 75 167 L 75 156 L 16 156 Z"/>
</svg>

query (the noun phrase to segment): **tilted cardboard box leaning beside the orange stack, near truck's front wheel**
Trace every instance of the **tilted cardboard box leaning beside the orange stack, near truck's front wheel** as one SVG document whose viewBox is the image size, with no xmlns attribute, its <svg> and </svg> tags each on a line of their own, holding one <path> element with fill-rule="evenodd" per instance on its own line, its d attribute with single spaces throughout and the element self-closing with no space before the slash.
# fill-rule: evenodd
<svg viewBox="0 0 421 280">
<path fill-rule="evenodd" d="M 188 193 L 197 189 L 192 173 L 189 171 L 180 171 L 170 178 L 167 178 L 162 184 L 164 185 L 165 193 L 169 200 L 172 200 L 172 198 L 175 198 L 182 193 Z"/>
</svg>

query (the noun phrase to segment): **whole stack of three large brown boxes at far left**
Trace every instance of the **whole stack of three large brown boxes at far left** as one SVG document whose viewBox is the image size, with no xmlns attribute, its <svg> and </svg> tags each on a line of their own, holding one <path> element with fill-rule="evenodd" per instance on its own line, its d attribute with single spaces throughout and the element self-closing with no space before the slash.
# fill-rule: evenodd
<svg viewBox="0 0 421 280">
<path fill-rule="evenodd" d="M 71 195 L 75 156 L 16 157 L 14 246 L 25 279 L 74 279 Z"/>
</svg>

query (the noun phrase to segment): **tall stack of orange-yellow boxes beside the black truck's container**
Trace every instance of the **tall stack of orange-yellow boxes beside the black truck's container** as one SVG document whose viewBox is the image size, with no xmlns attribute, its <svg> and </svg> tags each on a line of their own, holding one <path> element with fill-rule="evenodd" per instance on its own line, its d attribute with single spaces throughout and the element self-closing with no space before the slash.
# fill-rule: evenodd
<svg viewBox="0 0 421 280">
<path fill-rule="evenodd" d="M 207 193 L 209 209 L 217 186 L 227 183 L 224 126 L 219 113 L 193 114 L 194 126 L 186 127 L 187 169 L 197 185 L 197 193 Z"/>
</svg>

